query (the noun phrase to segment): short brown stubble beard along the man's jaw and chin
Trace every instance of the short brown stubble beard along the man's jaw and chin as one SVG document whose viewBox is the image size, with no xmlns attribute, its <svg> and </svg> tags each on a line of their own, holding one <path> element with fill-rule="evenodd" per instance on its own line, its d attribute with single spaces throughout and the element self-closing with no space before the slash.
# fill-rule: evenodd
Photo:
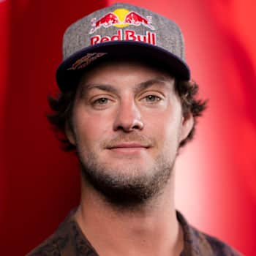
<svg viewBox="0 0 256 256">
<path fill-rule="evenodd" d="M 176 157 L 160 154 L 154 165 L 147 170 L 133 167 L 129 170 L 110 170 L 90 152 L 86 160 L 78 152 L 80 170 L 86 182 L 95 189 L 108 203 L 118 208 L 129 210 L 146 205 L 164 191 L 173 172 Z M 132 174 L 131 174 L 132 173 Z"/>
</svg>

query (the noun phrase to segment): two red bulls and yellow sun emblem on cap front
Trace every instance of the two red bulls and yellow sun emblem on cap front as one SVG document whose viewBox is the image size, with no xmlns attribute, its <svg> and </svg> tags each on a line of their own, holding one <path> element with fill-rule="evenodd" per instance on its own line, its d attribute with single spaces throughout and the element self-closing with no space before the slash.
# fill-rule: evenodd
<svg viewBox="0 0 256 256">
<path fill-rule="evenodd" d="M 91 19 L 91 30 L 89 34 L 94 34 L 97 29 L 104 27 L 108 28 L 110 26 L 116 26 L 118 28 L 126 26 L 145 26 L 148 29 L 154 30 L 152 25 L 152 17 L 140 15 L 138 12 L 131 12 L 127 9 L 121 8 L 116 9 L 113 12 L 109 12 L 102 18 Z"/>
</svg>

